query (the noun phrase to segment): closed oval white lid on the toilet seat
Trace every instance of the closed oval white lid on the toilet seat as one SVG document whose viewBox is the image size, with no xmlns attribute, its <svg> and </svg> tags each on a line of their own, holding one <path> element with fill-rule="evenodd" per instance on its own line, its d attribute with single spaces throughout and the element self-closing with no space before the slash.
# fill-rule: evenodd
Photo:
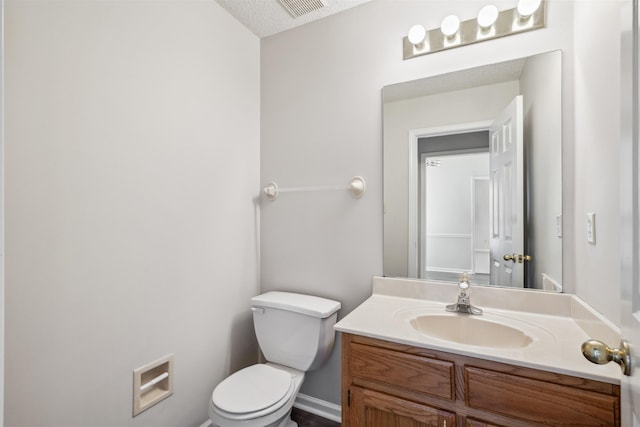
<svg viewBox="0 0 640 427">
<path fill-rule="evenodd" d="M 213 391 L 213 403 L 235 414 L 256 412 L 281 400 L 292 384 L 292 376 L 286 371 L 269 365 L 253 365 L 218 384 Z"/>
</svg>

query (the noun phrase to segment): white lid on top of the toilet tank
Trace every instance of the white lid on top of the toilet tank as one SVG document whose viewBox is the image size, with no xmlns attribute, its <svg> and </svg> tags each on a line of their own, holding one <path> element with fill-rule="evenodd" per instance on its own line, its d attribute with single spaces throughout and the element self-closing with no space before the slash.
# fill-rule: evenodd
<svg viewBox="0 0 640 427">
<path fill-rule="evenodd" d="M 279 308 L 325 318 L 340 310 L 340 303 L 313 295 L 272 291 L 251 298 L 252 307 Z"/>
</svg>

